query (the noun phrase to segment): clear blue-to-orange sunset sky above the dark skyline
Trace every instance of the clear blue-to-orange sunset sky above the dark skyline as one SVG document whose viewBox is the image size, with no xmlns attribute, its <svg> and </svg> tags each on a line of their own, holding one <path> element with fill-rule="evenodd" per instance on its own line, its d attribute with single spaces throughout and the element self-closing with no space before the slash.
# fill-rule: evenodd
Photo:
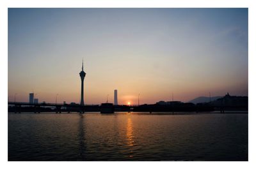
<svg viewBox="0 0 256 169">
<path fill-rule="evenodd" d="M 247 8 L 9 8 L 8 100 L 248 96 Z M 16 93 L 16 94 L 15 94 Z"/>
</svg>

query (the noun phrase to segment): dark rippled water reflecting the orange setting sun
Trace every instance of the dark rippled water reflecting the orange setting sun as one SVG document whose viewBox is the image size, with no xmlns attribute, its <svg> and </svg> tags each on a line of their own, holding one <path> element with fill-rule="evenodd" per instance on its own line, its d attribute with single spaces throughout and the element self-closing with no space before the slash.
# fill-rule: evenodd
<svg viewBox="0 0 256 169">
<path fill-rule="evenodd" d="M 9 161 L 248 161 L 248 114 L 8 114 Z"/>
</svg>

